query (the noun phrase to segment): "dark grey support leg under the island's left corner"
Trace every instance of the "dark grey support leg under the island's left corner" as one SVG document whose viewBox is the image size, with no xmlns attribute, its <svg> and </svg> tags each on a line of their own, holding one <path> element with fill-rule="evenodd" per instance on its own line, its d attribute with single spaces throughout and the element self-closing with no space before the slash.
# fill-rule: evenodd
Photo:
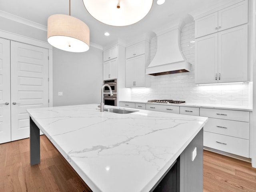
<svg viewBox="0 0 256 192">
<path fill-rule="evenodd" d="M 30 117 L 30 165 L 40 163 L 40 130 Z"/>
</svg>

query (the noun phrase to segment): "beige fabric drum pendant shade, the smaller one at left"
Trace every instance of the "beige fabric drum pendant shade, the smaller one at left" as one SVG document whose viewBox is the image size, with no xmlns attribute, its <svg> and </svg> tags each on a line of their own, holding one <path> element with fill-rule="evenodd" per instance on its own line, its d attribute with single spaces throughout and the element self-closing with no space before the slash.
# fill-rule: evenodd
<svg viewBox="0 0 256 192">
<path fill-rule="evenodd" d="M 47 40 L 64 51 L 85 52 L 90 47 L 90 30 L 75 17 L 56 14 L 48 18 Z"/>
</svg>

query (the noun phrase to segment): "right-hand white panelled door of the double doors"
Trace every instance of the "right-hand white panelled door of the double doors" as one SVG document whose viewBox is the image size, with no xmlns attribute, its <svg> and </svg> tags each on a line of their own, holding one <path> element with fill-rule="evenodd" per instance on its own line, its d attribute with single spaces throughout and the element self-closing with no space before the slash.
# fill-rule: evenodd
<svg viewBox="0 0 256 192">
<path fill-rule="evenodd" d="M 29 137 L 28 108 L 48 107 L 48 49 L 11 41 L 12 141 Z"/>
</svg>

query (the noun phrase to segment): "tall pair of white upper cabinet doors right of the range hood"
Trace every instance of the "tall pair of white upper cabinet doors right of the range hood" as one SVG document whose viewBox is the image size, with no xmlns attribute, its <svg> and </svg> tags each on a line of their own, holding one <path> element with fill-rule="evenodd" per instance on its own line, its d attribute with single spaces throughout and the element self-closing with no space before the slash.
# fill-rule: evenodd
<svg viewBox="0 0 256 192">
<path fill-rule="evenodd" d="M 248 26 L 242 25 L 195 41 L 195 83 L 248 80 Z"/>
</svg>

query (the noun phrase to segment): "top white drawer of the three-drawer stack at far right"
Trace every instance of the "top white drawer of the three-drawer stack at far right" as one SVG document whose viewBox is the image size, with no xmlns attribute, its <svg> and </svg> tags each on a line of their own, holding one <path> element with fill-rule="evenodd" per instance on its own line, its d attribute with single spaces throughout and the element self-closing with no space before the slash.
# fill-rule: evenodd
<svg viewBox="0 0 256 192">
<path fill-rule="evenodd" d="M 248 111 L 200 108 L 200 116 L 249 122 Z"/>
</svg>

